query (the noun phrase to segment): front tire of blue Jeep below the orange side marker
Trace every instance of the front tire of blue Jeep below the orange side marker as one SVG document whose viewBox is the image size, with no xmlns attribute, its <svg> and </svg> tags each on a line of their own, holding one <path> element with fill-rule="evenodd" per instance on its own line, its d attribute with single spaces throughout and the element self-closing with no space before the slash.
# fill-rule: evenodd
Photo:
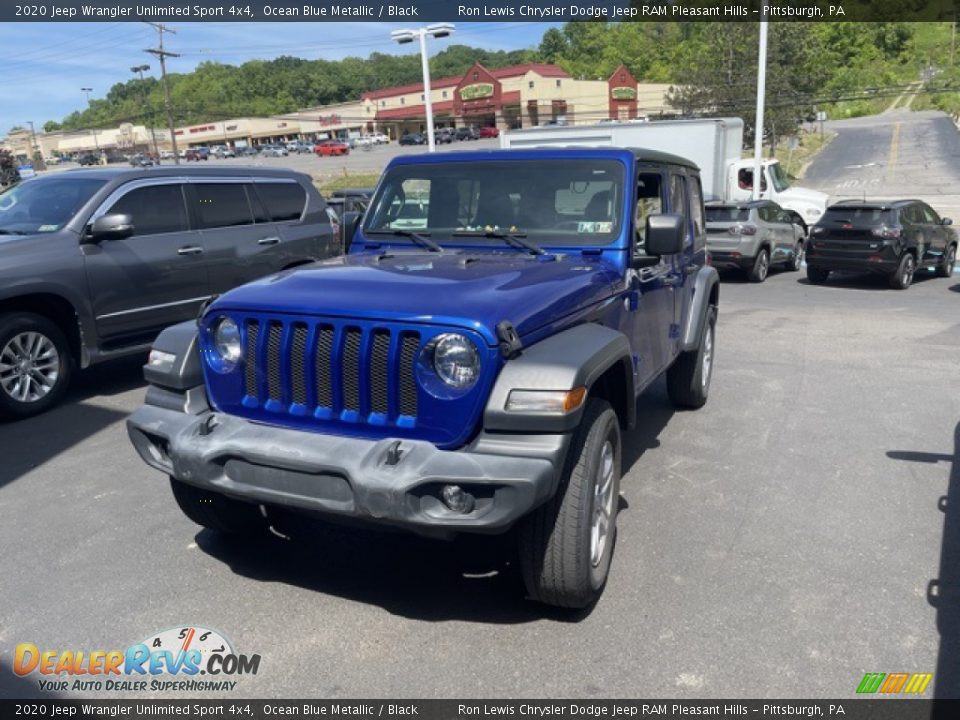
<svg viewBox="0 0 960 720">
<path fill-rule="evenodd" d="M 590 398 L 557 493 L 519 527 L 520 571 L 534 600 L 584 608 L 603 593 L 616 542 L 620 457 L 617 414 L 606 400 Z M 607 529 L 602 541 L 598 502 Z"/>
</svg>

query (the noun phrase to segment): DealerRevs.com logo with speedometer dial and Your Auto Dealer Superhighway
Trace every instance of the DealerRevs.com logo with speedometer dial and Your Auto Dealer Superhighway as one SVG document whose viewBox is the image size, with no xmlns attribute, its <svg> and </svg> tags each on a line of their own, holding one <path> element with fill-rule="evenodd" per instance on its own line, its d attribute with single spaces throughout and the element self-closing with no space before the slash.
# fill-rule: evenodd
<svg viewBox="0 0 960 720">
<path fill-rule="evenodd" d="M 242 675 L 256 675 L 259 655 L 244 655 L 215 630 L 197 626 L 155 633 L 126 650 L 41 650 L 21 643 L 14 651 L 17 675 L 39 675 L 43 691 L 224 692 Z"/>
</svg>

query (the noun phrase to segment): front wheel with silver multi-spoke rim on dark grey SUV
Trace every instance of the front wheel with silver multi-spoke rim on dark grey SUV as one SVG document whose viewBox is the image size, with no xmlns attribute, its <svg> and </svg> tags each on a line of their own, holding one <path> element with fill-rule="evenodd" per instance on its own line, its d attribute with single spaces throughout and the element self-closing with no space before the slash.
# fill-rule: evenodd
<svg viewBox="0 0 960 720">
<path fill-rule="evenodd" d="M 0 314 L 0 418 L 46 412 L 63 399 L 72 375 L 70 345 L 53 321 L 34 313 Z"/>
</svg>

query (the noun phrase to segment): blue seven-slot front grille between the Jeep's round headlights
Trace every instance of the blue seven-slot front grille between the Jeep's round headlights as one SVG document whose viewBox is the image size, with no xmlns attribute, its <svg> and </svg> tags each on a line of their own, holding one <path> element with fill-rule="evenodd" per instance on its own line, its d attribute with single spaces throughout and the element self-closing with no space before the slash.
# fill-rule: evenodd
<svg viewBox="0 0 960 720">
<path fill-rule="evenodd" d="M 327 320 L 244 327 L 247 407 L 378 424 L 416 418 L 419 333 Z"/>
</svg>

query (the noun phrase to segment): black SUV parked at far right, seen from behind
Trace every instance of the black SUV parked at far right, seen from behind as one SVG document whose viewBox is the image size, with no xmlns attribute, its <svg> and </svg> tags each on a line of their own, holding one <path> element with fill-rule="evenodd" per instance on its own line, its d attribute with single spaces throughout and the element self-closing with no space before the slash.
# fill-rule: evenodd
<svg viewBox="0 0 960 720">
<path fill-rule="evenodd" d="M 921 200 L 844 200 L 827 208 L 810 229 L 807 279 L 827 281 L 834 270 L 886 275 L 890 287 L 906 290 L 918 269 L 932 267 L 952 277 L 957 234 Z"/>
</svg>

